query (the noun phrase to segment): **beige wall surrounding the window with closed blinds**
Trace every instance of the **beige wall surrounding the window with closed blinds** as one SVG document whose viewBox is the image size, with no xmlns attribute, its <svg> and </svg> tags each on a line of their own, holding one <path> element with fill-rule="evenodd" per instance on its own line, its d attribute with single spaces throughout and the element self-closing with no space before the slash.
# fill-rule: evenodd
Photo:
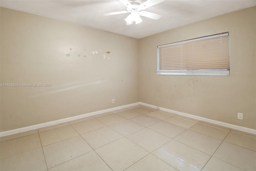
<svg viewBox="0 0 256 171">
<path fill-rule="evenodd" d="M 160 76 L 157 46 L 230 33 L 231 76 Z M 256 129 L 256 7 L 140 40 L 140 101 Z M 237 119 L 237 113 L 244 120 Z"/>
</svg>

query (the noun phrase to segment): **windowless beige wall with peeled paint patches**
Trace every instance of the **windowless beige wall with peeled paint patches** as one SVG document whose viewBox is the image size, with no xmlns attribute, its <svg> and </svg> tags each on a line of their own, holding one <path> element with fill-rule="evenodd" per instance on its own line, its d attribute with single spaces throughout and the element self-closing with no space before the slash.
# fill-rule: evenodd
<svg viewBox="0 0 256 171">
<path fill-rule="evenodd" d="M 137 39 L 6 8 L 0 12 L 0 83 L 51 84 L 1 87 L 0 131 L 139 101 Z"/>
</svg>

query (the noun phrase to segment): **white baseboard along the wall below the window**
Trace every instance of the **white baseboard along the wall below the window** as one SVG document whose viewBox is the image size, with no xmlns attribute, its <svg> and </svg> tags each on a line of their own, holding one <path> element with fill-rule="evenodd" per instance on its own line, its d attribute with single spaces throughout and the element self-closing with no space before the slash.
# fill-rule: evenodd
<svg viewBox="0 0 256 171">
<path fill-rule="evenodd" d="M 150 104 L 147 104 L 147 103 L 142 103 L 142 102 L 139 102 L 139 103 L 140 103 L 140 105 L 144 105 L 144 106 L 151 107 L 151 108 L 154 108 L 154 109 L 159 109 L 159 110 L 162 110 L 162 111 L 167 111 L 167 112 L 170 112 L 170 113 L 174 113 L 176 115 L 181 115 L 181 116 L 189 117 L 189 118 L 192 118 L 192 119 L 197 119 L 197 120 L 200 120 L 200 121 L 205 121 L 205 122 L 208 122 L 208 123 L 213 123 L 213 124 L 216 124 L 216 125 L 228 127 L 228 128 L 231 128 L 231 129 L 236 129 L 236 130 L 239 130 L 239 131 L 244 131 L 244 132 L 247 132 L 247 133 L 256 134 L 256 129 L 250 129 L 250 128 L 247 128 L 247 127 L 232 125 L 230 123 L 225 123 L 225 122 L 221 122 L 221 121 L 207 119 L 205 117 L 200 117 L 200 116 L 191 115 L 191 114 L 188 114 L 188 113 L 183 113 L 183 112 L 180 112 L 180 111 L 166 109 L 166 108 L 163 108 L 163 107 L 158 107 L 158 106 L 150 105 Z"/>
</svg>

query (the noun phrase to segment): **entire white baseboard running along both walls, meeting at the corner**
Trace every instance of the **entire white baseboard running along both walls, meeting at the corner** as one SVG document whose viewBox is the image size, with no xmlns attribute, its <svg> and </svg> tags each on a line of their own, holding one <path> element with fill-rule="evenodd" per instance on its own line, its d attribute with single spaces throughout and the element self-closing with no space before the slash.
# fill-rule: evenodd
<svg viewBox="0 0 256 171">
<path fill-rule="evenodd" d="M 100 110 L 100 111 L 86 113 L 86 114 L 82 114 L 82 115 L 78 115 L 78 116 L 59 119 L 59 120 L 56 120 L 56 121 L 50 121 L 50 122 L 46 122 L 46 123 L 40 123 L 40 124 L 37 124 L 37 125 L 31 125 L 31 126 L 28 126 L 28 127 L 22 127 L 22 128 L 18 128 L 18 129 L 12 129 L 12 130 L 9 130 L 9 131 L 3 131 L 3 132 L 0 132 L 0 137 L 4 137 L 4 136 L 16 134 L 16 133 L 22 133 L 22 132 L 26 132 L 26 131 L 31 131 L 31 130 L 39 129 L 39 128 L 42 128 L 42 127 L 57 125 L 59 123 L 74 121 L 76 119 L 82 119 L 84 117 L 89 117 L 89 116 L 94 116 L 94 115 L 98 115 L 98 114 L 102 114 L 102 113 L 106 113 L 106 112 L 110 112 L 110 111 L 124 109 L 124 108 L 132 107 L 132 106 L 135 106 L 135 105 L 144 105 L 144 106 L 147 106 L 147 107 L 151 107 L 151 108 L 154 108 L 154 109 L 159 109 L 159 110 L 162 110 L 162 111 L 167 111 L 167 112 L 170 112 L 170 113 L 174 113 L 174 114 L 177 114 L 177 115 L 182 115 L 182 116 L 189 117 L 189 118 L 192 118 L 192 119 L 197 119 L 197 120 L 200 120 L 200 121 L 205 121 L 205 122 L 208 122 L 208 123 L 213 123 L 213 124 L 216 124 L 216 125 L 228 127 L 228 128 L 231 128 L 231 129 L 236 129 L 236 130 L 239 130 L 239 131 L 244 131 L 244 132 L 247 132 L 247 133 L 256 134 L 255 129 L 241 127 L 241 126 L 238 126 L 238 125 L 232 125 L 230 123 L 225 123 L 225 122 L 216 121 L 216 120 L 212 120 L 212 119 L 207 119 L 205 117 L 200 117 L 200 116 L 191 115 L 191 114 L 188 114 L 188 113 L 183 113 L 183 112 L 180 112 L 180 111 L 166 109 L 166 108 L 163 108 L 163 107 L 158 107 L 158 106 L 150 105 L 150 104 L 147 104 L 147 103 L 137 102 L 137 103 L 132 103 L 132 104 L 128 104 L 128 105 L 113 107 L 113 108 L 110 108 L 110 109 L 104 109 L 104 110 Z"/>
</svg>

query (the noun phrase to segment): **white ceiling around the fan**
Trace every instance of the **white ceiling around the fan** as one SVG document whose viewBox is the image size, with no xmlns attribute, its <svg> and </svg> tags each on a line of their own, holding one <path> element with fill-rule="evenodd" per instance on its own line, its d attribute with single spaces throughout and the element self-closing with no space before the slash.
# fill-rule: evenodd
<svg viewBox="0 0 256 171">
<path fill-rule="evenodd" d="M 130 26 L 124 21 L 129 14 L 102 15 L 126 10 L 119 0 L 0 0 L 0 6 L 139 39 L 256 6 L 256 0 L 165 0 L 146 9 L 161 14 L 159 20 L 142 16 L 143 22 Z"/>
</svg>

